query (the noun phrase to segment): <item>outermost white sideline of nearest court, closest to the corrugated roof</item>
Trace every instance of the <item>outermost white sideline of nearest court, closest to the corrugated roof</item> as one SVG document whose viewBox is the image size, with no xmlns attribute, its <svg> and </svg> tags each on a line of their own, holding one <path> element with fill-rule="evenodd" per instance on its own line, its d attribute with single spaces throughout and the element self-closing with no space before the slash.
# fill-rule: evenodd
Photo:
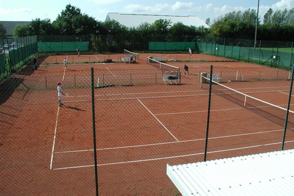
<svg viewBox="0 0 294 196">
<path fill-rule="evenodd" d="M 290 142 L 294 142 L 294 141 L 287 141 L 285 143 L 290 143 Z M 209 153 L 209 154 L 211 154 L 211 153 L 220 153 L 220 152 L 225 152 L 225 151 L 233 151 L 233 150 L 241 150 L 241 149 L 247 149 L 247 148 L 256 148 L 256 147 L 262 147 L 262 146 L 277 145 L 277 144 L 281 144 L 281 143 L 282 142 L 255 145 L 255 146 L 246 146 L 246 147 L 241 147 L 241 148 L 232 148 L 232 149 L 226 149 L 226 150 L 211 151 L 211 152 L 207 152 L 207 153 Z M 133 160 L 133 161 L 124 161 L 124 162 L 116 162 L 116 163 L 105 163 L 105 164 L 97 164 L 97 166 L 116 165 L 116 164 L 125 164 L 125 163 L 136 163 L 136 162 L 145 162 L 145 161 L 153 161 L 153 160 L 164 160 L 164 159 L 170 159 L 170 158 L 188 157 L 188 156 L 203 155 L 203 154 L 204 153 L 194 153 L 194 154 L 189 154 L 189 155 L 179 155 L 179 156 L 162 157 L 162 158 L 154 158 L 154 159 Z M 73 168 L 81 168 L 81 167 L 93 167 L 93 166 L 94 165 L 62 167 L 62 168 L 56 168 L 54 170 L 64 170 L 64 169 L 73 169 Z"/>
</svg>

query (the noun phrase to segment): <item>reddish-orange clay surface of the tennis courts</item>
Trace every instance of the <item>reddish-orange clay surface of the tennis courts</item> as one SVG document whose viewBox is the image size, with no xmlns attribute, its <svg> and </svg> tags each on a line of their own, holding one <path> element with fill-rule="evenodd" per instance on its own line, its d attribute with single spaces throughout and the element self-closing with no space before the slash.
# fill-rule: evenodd
<svg viewBox="0 0 294 196">
<path fill-rule="evenodd" d="M 11 91 L 1 104 L 0 116 L 6 119 L 1 121 L 5 128 L 1 131 L 5 136 L 1 141 L 1 165 L 5 165 L 1 192 L 95 194 L 90 67 L 94 67 L 97 86 L 102 80 L 128 84 L 95 89 L 101 195 L 177 194 L 166 175 L 166 164 L 203 161 L 209 91 L 201 88 L 199 73 L 209 73 L 211 64 L 221 78 L 240 80 L 223 83 L 225 86 L 287 106 L 288 71 L 240 62 L 168 62 L 181 68 L 181 85 L 167 85 L 162 71 L 146 64 L 147 56 L 150 54 L 140 54 L 135 64 L 69 63 L 66 71 L 62 65 L 41 65 L 35 71 L 24 68 L 27 74 L 18 76 L 21 90 Z M 46 62 L 51 58 L 56 59 L 49 56 Z M 189 74 L 183 73 L 184 64 Z M 264 80 L 268 76 L 274 79 Z M 57 104 L 58 81 L 69 93 L 63 107 Z M 34 88 L 26 91 L 23 85 Z M 280 150 L 280 121 L 216 92 L 210 118 L 208 160 Z M 292 119 L 290 114 L 285 149 L 294 147 Z M 17 176 L 10 175 L 16 171 Z"/>
</svg>

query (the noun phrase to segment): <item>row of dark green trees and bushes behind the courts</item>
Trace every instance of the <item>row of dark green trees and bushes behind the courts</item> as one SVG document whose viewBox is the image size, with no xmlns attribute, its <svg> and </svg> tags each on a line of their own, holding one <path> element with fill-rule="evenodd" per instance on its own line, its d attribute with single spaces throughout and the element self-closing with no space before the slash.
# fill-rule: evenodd
<svg viewBox="0 0 294 196">
<path fill-rule="evenodd" d="M 156 20 L 152 24 L 142 23 L 137 27 L 128 28 L 114 20 L 97 21 L 92 16 L 83 14 L 78 7 L 68 4 L 53 22 L 50 19 L 36 18 L 28 26 L 17 26 L 14 29 L 14 36 L 88 35 L 97 43 L 103 42 L 103 38 L 106 37 L 108 41 L 115 43 L 118 40 L 121 41 L 122 36 L 138 40 L 138 43 L 140 43 L 140 40 L 191 41 L 193 37 L 197 36 L 254 39 L 256 10 L 233 11 L 224 16 L 219 16 L 212 22 L 208 18 L 206 23 L 211 28 L 187 26 L 181 22 L 172 24 L 170 20 L 166 19 Z M 1 29 L 0 25 L 0 31 Z M 257 39 L 293 41 L 293 35 L 294 8 L 277 11 L 270 8 L 264 15 L 263 24 L 260 22 L 260 17 L 258 18 Z"/>
</svg>

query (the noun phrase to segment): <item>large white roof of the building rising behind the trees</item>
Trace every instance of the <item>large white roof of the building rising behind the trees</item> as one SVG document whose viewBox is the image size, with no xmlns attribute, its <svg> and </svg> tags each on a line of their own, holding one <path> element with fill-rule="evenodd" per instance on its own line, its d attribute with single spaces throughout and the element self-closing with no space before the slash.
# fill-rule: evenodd
<svg viewBox="0 0 294 196">
<path fill-rule="evenodd" d="M 141 23 L 147 22 L 152 24 L 154 21 L 159 19 L 170 19 L 173 24 L 177 22 L 182 22 L 183 24 L 188 26 L 205 26 L 209 28 L 209 26 L 197 16 L 108 13 L 105 21 L 116 20 L 124 26 L 137 27 Z"/>
</svg>

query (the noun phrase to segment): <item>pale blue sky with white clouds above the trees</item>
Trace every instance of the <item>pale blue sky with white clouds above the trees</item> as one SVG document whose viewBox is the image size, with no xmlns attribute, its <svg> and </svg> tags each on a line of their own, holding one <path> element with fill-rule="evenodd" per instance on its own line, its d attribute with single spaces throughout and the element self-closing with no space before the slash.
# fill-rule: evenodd
<svg viewBox="0 0 294 196">
<path fill-rule="evenodd" d="M 0 0 L 0 21 L 31 21 L 36 18 L 54 21 L 69 3 L 100 21 L 105 20 L 108 12 L 192 15 L 202 20 L 210 18 L 212 21 L 231 11 L 256 9 L 257 2 L 258 0 Z M 261 18 L 269 8 L 292 9 L 294 0 L 260 0 Z"/>
</svg>

